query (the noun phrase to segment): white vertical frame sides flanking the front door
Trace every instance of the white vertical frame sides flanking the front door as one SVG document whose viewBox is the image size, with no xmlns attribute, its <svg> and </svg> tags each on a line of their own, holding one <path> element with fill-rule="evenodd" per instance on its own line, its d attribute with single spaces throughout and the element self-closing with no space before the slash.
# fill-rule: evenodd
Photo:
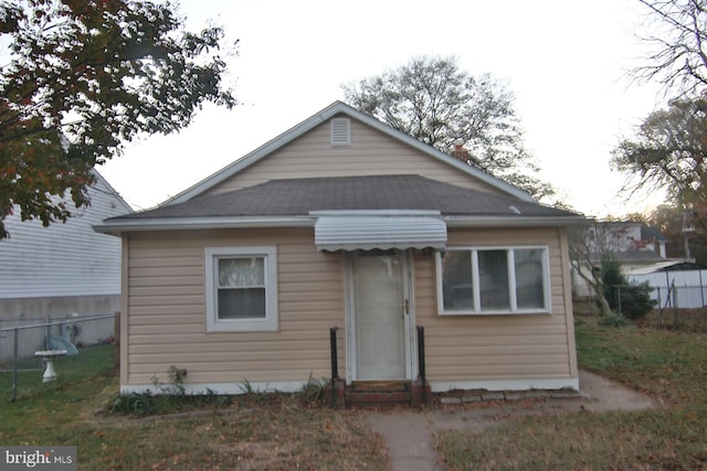
<svg viewBox="0 0 707 471">
<path fill-rule="evenodd" d="M 405 351 L 405 379 L 412 381 L 418 374 L 418 364 L 415 362 L 416 339 L 414 335 L 415 325 L 415 303 L 414 303 L 414 272 L 412 250 L 399 250 L 401 260 L 401 277 L 403 299 L 408 300 L 409 312 L 403 315 L 403 342 Z M 355 309 L 355 290 L 354 290 L 354 257 L 358 256 L 357 251 L 347 251 L 345 254 L 345 311 L 346 311 L 346 384 L 351 384 L 358 379 L 358 362 L 357 362 L 357 339 L 356 339 L 356 309 Z M 403 308 L 401 308 L 402 310 Z"/>
</svg>

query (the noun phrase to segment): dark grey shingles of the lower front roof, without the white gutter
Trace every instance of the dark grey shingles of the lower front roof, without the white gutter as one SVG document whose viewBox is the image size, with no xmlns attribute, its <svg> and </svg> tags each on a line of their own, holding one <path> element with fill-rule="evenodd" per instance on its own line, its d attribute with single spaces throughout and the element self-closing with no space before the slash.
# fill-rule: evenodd
<svg viewBox="0 0 707 471">
<path fill-rule="evenodd" d="M 433 210 L 443 215 L 577 216 L 577 214 L 420 175 L 271 180 L 229 193 L 201 196 L 119 220 L 299 216 L 310 211 Z"/>
</svg>

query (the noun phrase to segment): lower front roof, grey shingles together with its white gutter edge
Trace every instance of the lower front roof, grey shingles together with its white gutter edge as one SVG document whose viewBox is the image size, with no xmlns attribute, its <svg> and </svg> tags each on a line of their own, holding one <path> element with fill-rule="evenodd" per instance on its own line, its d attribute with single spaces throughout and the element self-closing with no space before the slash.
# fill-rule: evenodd
<svg viewBox="0 0 707 471">
<path fill-rule="evenodd" d="M 420 175 L 271 180 L 106 220 L 101 232 L 264 225 L 312 226 L 320 212 L 436 212 L 460 224 L 558 224 L 584 221 L 569 211 L 489 194 Z"/>
</svg>

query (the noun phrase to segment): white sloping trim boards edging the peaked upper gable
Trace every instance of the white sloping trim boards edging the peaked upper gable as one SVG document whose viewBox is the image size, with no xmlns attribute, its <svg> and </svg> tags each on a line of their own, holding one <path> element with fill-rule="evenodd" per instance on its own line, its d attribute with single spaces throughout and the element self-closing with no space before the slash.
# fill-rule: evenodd
<svg viewBox="0 0 707 471">
<path fill-rule="evenodd" d="M 466 164 L 455 158 L 453 158 L 452 156 L 449 156 L 435 148 L 433 148 L 432 146 L 429 146 L 426 143 L 423 143 L 421 141 L 419 141 L 418 139 L 414 139 L 411 136 L 408 136 L 404 132 L 401 132 L 392 127 L 390 127 L 389 125 L 379 121 L 378 119 L 366 115 L 365 113 L 361 113 L 352 107 L 350 107 L 349 105 L 346 105 L 345 103 L 341 101 L 335 101 L 331 105 L 329 105 L 328 107 L 324 108 L 323 110 L 314 114 L 313 116 L 310 116 L 309 118 L 305 119 L 304 121 L 302 121 L 300 124 L 298 124 L 297 126 L 291 128 L 289 130 L 283 132 L 282 135 L 277 136 L 276 138 L 272 139 L 270 142 L 266 142 L 265 144 L 261 146 L 260 148 L 255 149 L 254 151 L 247 153 L 246 156 L 244 156 L 243 158 L 234 161 L 233 163 L 226 165 L 225 168 L 221 169 L 220 171 L 218 171 L 217 173 L 212 174 L 211 176 L 208 176 L 207 179 L 202 180 L 201 182 L 194 184 L 193 186 L 184 190 L 183 192 L 177 194 L 176 196 L 172 196 L 171 199 L 167 200 L 165 203 L 162 203 L 162 206 L 165 205 L 171 205 L 171 204 L 178 204 L 178 203 L 184 203 L 193 197 L 197 197 L 201 194 L 203 194 L 204 192 L 209 191 L 210 189 L 214 188 L 215 185 L 220 184 L 221 182 L 230 179 L 231 176 L 233 176 L 235 173 L 246 169 L 247 167 L 254 164 L 255 162 L 257 162 L 258 160 L 263 159 L 264 157 L 271 154 L 272 152 L 274 152 L 275 150 L 282 148 L 283 146 L 289 143 L 291 141 L 297 139 L 298 137 L 300 137 L 302 135 L 304 135 L 305 132 L 312 130 L 313 128 L 315 128 L 316 126 L 321 125 L 323 122 L 326 122 L 327 120 L 329 120 L 330 118 L 335 117 L 335 116 L 339 116 L 339 115 L 345 115 L 350 117 L 351 119 L 356 119 L 358 121 L 361 121 L 370 127 L 372 127 L 373 129 L 377 129 L 378 131 L 393 138 L 397 139 L 434 159 L 441 160 L 443 162 L 445 162 L 446 164 L 454 167 L 465 173 L 467 173 L 468 175 L 478 179 L 487 184 L 489 184 L 493 188 L 496 188 L 498 190 L 500 190 L 502 192 L 510 195 L 510 196 L 515 196 L 519 200 L 523 201 L 535 201 L 532 199 L 532 196 L 530 196 L 528 193 L 526 193 L 525 191 L 509 184 L 506 183 L 503 180 L 499 180 L 475 167 L 472 167 L 469 164 Z"/>
</svg>

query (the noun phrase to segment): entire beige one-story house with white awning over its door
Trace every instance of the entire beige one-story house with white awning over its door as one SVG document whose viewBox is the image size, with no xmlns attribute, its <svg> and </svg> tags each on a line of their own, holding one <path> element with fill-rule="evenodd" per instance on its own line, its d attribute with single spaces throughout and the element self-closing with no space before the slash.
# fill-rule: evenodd
<svg viewBox="0 0 707 471">
<path fill-rule="evenodd" d="M 96 227 L 123 240 L 122 392 L 170 365 L 190 393 L 293 392 L 331 370 L 405 384 L 423 366 L 432 392 L 577 389 L 580 222 L 334 103 Z"/>
</svg>

